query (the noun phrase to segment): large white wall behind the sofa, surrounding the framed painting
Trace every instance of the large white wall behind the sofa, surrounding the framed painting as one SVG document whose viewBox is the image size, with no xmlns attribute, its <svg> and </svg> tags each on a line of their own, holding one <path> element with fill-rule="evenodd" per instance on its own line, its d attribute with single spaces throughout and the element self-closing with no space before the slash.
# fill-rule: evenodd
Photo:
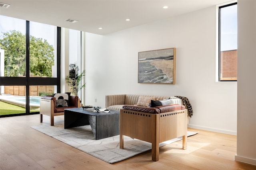
<svg viewBox="0 0 256 170">
<path fill-rule="evenodd" d="M 172 47 L 176 84 L 138 84 L 138 52 Z M 214 6 L 105 36 L 87 33 L 86 63 L 86 105 L 104 107 L 110 94 L 186 96 L 190 127 L 236 134 L 237 83 L 215 82 Z"/>
</svg>

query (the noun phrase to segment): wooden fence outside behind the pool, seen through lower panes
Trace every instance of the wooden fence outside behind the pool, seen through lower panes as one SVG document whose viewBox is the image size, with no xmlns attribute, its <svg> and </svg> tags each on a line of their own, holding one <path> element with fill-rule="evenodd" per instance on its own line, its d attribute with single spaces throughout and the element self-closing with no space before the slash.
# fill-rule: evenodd
<svg viewBox="0 0 256 170">
<path fill-rule="evenodd" d="M 54 93 L 54 86 L 30 86 L 30 96 L 44 96 Z M 4 86 L 4 94 L 26 96 L 26 86 Z"/>
</svg>

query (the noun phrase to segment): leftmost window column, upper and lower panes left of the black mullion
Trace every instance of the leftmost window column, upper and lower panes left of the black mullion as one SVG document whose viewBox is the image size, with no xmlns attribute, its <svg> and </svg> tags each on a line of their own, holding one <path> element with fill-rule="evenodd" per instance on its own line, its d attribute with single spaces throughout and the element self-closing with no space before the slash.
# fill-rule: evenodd
<svg viewBox="0 0 256 170">
<path fill-rule="evenodd" d="M 26 77 L 26 20 L 0 16 L 0 72 L 1 77 Z M 14 80 L 14 79 L 13 79 Z M 0 84 L 8 80 L 0 79 Z M 15 96 L 26 96 L 25 86 L 0 86 L 0 116 L 26 113 Z M 15 87 L 15 88 L 14 88 Z M 4 96 L 3 96 L 4 95 Z"/>
</svg>

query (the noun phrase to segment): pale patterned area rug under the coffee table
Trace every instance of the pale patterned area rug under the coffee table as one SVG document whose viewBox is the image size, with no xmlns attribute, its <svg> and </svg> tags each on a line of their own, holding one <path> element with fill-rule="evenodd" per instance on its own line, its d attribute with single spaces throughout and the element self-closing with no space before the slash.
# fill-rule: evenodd
<svg viewBox="0 0 256 170">
<path fill-rule="evenodd" d="M 54 122 L 54 126 L 45 122 L 38 126 L 32 126 L 32 128 L 108 163 L 118 162 L 151 149 L 151 143 L 126 136 L 124 136 L 124 149 L 120 149 L 119 135 L 95 140 L 90 125 L 64 129 L 63 122 Z M 188 131 L 188 136 L 196 133 Z M 159 147 L 181 139 L 182 137 L 179 137 L 160 143 Z"/>
</svg>

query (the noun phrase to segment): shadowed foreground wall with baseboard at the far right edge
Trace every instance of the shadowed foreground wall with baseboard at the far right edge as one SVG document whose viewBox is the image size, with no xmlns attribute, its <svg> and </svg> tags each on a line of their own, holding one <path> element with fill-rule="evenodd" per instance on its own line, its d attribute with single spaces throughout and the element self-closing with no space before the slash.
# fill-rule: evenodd
<svg viewBox="0 0 256 170">
<path fill-rule="evenodd" d="M 256 165 L 256 1 L 238 0 L 238 109 L 235 159 Z"/>
</svg>

